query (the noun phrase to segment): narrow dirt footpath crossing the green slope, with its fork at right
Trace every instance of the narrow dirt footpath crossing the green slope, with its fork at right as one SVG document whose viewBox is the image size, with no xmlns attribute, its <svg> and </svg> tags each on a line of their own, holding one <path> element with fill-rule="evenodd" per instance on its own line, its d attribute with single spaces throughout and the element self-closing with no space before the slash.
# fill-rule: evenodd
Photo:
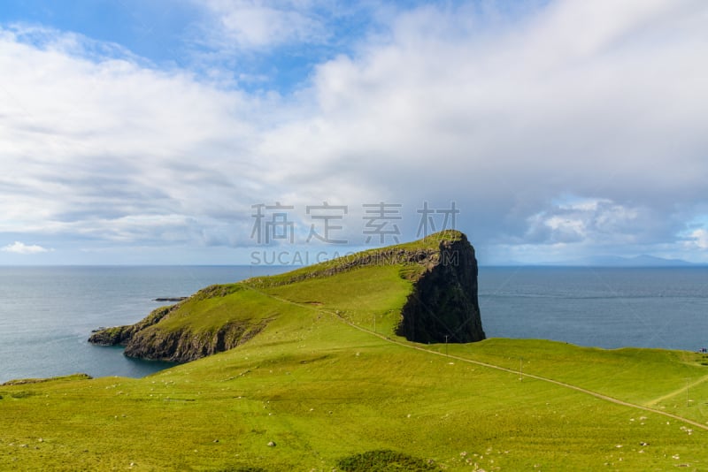
<svg viewBox="0 0 708 472">
<path fill-rule="evenodd" d="M 304 304 L 304 303 L 297 303 L 296 301 L 290 301 L 290 300 L 287 300 L 287 299 L 283 299 L 283 298 L 281 298 L 281 297 L 277 297 L 277 296 L 272 295 L 272 294 L 270 294 L 270 293 L 261 292 L 261 291 L 259 291 L 258 289 L 254 288 L 254 287 L 251 287 L 251 286 L 249 286 L 249 288 L 250 288 L 250 290 L 253 290 L 253 291 L 255 291 L 255 292 L 262 293 L 263 295 L 266 295 L 267 297 L 270 297 L 270 298 L 272 298 L 273 300 L 281 301 L 281 302 L 283 302 L 283 303 L 289 303 L 289 304 L 291 304 L 291 305 L 296 305 L 297 307 L 309 308 L 309 309 L 311 309 L 311 310 L 313 310 L 313 311 L 316 311 L 316 312 L 318 312 L 318 313 L 323 313 L 323 314 L 326 314 L 326 315 L 329 315 L 329 316 L 333 316 L 335 319 L 339 320 L 339 321 L 342 322 L 343 324 L 348 324 L 350 327 L 352 327 L 352 328 L 354 328 L 354 329 L 357 329 L 358 331 L 366 332 L 367 334 L 369 334 L 369 335 L 371 335 L 371 336 L 375 336 L 375 337 L 377 337 L 377 338 L 379 338 L 379 339 L 382 339 L 383 341 L 386 341 L 386 342 L 391 343 L 391 344 L 396 344 L 397 346 L 407 347 L 407 348 L 409 348 L 409 349 L 415 349 L 415 350 L 417 350 L 417 351 L 421 351 L 421 352 L 424 352 L 424 353 L 427 353 L 427 354 L 439 355 L 439 356 L 441 356 L 441 357 L 445 357 L 445 358 L 448 358 L 448 359 L 455 359 L 456 361 L 459 361 L 459 362 L 468 362 L 468 363 L 475 364 L 475 365 L 478 365 L 478 366 L 481 366 L 481 367 L 486 367 L 486 368 L 488 368 L 488 369 L 501 370 L 501 371 L 504 371 L 504 372 L 508 372 L 508 373 L 510 373 L 510 374 L 514 374 L 514 375 L 519 376 L 519 377 L 521 377 L 521 378 L 523 378 L 523 377 L 533 378 L 533 379 L 535 379 L 535 380 L 540 380 L 540 381 L 542 381 L 542 382 L 548 382 L 549 384 L 556 384 L 556 385 L 558 385 L 558 386 L 565 387 L 565 388 L 574 390 L 574 391 L 576 391 L 576 392 L 586 393 L 586 394 L 588 394 L 588 395 L 590 395 L 590 396 L 595 397 L 596 399 L 609 401 L 609 402 L 611 402 L 611 403 L 614 403 L 615 405 L 621 405 L 621 406 L 623 406 L 623 407 L 636 408 L 636 409 L 643 410 L 643 411 L 646 411 L 646 412 L 649 412 L 649 413 L 654 413 L 654 414 L 657 414 L 657 415 L 663 415 L 663 416 L 666 416 L 667 418 L 672 418 L 673 420 L 677 420 L 677 421 L 680 421 L 680 422 L 683 422 L 683 423 L 688 423 L 688 424 L 690 424 L 690 425 L 692 425 L 692 426 L 695 426 L 696 428 L 700 428 L 700 429 L 702 429 L 702 430 L 708 430 L 708 425 L 706 425 L 706 424 L 704 424 L 704 423 L 698 423 L 698 422 L 696 422 L 696 421 L 694 421 L 694 420 L 691 420 L 691 419 L 689 419 L 689 418 L 685 418 L 685 417 L 680 416 L 680 415 L 674 415 L 673 413 L 668 413 L 668 412 L 666 412 L 666 411 L 661 411 L 661 410 L 658 410 L 658 409 L 656 409 L 656 408 L 645 407 L 645 406 L 643 406 L 643 405 L 638 405 L 638 404 L 636 404 L 636 403 L 631 403 L 631 402 L 629 402 L 629 401 L 616 399 L 616 398 L 611 397 L 611 396 L 609 396 L 609 395 L 604 395 L 603 393 L 595 392 L 595 391 L 592 391 L 592 390 L 588 390 L 588 389 L 586 389 L 586 388 L 582 388 L 582 387 L 579 387 L 579 386 L 577 386 L 577 385 L 566 384 L 565 382 L 560 382 L 559 380 L 554 380 L 554 379 L 549 378 L 549 377 L 536 376 L 536 375 L 534 375 L 534 374 L 529 374 L 529 373 L 525 373 L 525 372 L 520 372 L 519 370 L 508 369 L 508 368 L 506 368 L 506 367 L 498 366 L 498 365 L 495 365 L 495 364 L 490 364 L 489 362 L 474 361 L 473 359 L 468 359 L 468 358 L 466 358 L 466 357 L 460 357 L 460 356 L 454 355 L 454 354 L 438 353 L 437 351 L 433 351 L 433 350 L 430 350 L 430 349 L 426 349 L 425 347 L 415 346 L 415 345 L 412 345 L 412 344 L 407 343 L 407 342 L 404 342 L 404 341 L 398 341 L 398 340 L 396 340 L 396 339 L 391 339 L 391 338 L 389 338 L 388 336 L 385 336 L 385 335 L 383 335 L 383 334 L 381 334 L 381 333 L 378 333 L 378 332 L 369 330 L 369 329 L 367 329 L 367 328 L 364 328 L 363 326 L 359 326 L 358 324 L 353 324 L 353 323 L 351 323 L 349 320 L 347 320 L 347 319 L 345 319 L 344 317 L 342 317 L 341 315 L 339 315 L 339 314 L 337 314 L 337 313 L 335 313 L 335 312 L 329 311 L 329 310 L 327 310 L 327 309 L 316 308 L 316 307 L 312 307 L 312 306 L 310 306 L 310 305 L 306 305 L 306 304 Z M 698 381 L 695 382 L 694 384 L 700 384 L 700 383 L 704 382 L 706 379 L 708 379 L 708 376 L 701 378 L 700 380 L 698 380 Z M 690 385 L 689 385 L 689 386 L 690 386 Z M 663 396 L 663 397 L 660 397 L 660 398 L 658 398 L 658 399 L 656 399 L 656 400 L 652 400 L 651 404 L 652 404 L 652 405 L 655 405 L 655 404 L 657 404 L 657 403 L 658 403 L 659 401 L 661 401 L 661 400 L 666 400 L 666 399 L 668 399 L 668 398 L 673 397 L 673 395 L 676 395 L 676 394 L 681 393 L 681 392 L 685 392 L 685 389 L 686 389 L 686 387 L 684 387 L 683 389 L 681 389 L 681 390 L 679 390 L 679 391 L 677 391 L 677 392 L 670 392 L 670 393 L 667 393 L 667 394 L 666 394 L 665 396 Z"/>
</svg>

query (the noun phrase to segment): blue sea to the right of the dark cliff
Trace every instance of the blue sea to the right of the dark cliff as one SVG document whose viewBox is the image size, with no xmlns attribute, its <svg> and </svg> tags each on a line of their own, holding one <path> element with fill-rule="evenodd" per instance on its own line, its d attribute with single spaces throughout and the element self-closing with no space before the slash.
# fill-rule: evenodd
<svg viewBox="0 0 708 472">
<path fill-rule="evenodd" d="M 488 337 L 581 346 L 708 346 L 708 268 L 480 269 Z"/>
</svg>

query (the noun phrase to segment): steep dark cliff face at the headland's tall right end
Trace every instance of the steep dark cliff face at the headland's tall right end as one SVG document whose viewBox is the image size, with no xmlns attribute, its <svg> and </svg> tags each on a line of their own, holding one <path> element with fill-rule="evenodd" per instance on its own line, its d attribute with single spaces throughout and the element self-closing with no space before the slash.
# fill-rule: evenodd
<svg viewBox="0 0 708 472">
<path fill-rule="evenodd" d="M 465 235 L 459 240 L 443 240 L 435 259 L 414 282 L 396 334 L 421 343 L 485 339 L 474 248 Z"/>
</svg>

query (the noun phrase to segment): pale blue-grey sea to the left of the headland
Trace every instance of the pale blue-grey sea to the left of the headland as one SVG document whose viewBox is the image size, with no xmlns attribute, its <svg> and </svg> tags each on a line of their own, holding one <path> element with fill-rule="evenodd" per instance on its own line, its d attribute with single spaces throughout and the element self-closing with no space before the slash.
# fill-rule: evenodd
<svg viewBox="0 0 708 472">
<path fill-rule="evenodd" d="M 99 326 L 133 324 L 159 297 L 273 274 L 258 266 L 0 267 L 0 383 L 84 372 L 144 377 L 171 364 L 129 359 L 87 342 Z"/>
</svg>

